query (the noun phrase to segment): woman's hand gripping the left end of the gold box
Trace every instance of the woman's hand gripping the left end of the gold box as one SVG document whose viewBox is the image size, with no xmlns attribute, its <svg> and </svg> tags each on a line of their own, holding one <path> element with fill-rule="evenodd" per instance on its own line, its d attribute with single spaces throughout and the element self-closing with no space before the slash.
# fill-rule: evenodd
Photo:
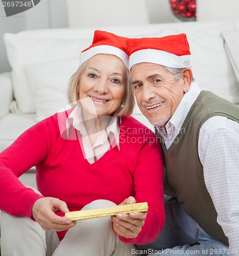
<svg viewBox="0 0 239 256">
<path fill-rule="evenodd" d="M 32 207 L 32 218 L 46 230 L 62 231 L 73 227 L 73 222 L 67 217 L 60 217 L 55 214 L 59 209 L 61 212 L 68 212 L 67 204 L 57 198 L 45 197 L 38 199 Z"/>
</svg>

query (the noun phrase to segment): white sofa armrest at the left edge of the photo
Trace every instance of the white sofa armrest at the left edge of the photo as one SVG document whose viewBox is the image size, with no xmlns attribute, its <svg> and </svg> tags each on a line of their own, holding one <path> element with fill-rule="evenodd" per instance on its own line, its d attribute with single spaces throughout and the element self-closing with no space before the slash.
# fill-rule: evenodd
<svg viewBox="0 0 239 256">
<path fill-rule="evenodd" d="M 13 100 L 11 72 L 0 74 L 0 119 L 9 113 L 9 105 Z"/>
</svg>

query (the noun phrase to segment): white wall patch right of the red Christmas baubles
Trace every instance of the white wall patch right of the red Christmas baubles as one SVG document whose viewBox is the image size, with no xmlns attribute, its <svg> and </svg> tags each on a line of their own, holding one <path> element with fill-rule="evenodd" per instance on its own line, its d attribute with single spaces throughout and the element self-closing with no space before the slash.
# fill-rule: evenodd
<svg viewBox="0 0 239 256">
<path fill-rule="evenodd" d="M 239 0 L 197 0 L 197 20 L 239 20 Z"/>
</svg>

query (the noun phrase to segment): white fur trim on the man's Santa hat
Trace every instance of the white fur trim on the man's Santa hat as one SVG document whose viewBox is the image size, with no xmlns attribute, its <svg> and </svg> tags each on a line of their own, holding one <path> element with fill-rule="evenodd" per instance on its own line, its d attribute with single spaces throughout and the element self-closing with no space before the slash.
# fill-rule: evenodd
<svg viewBox="0 0 239 256">
<path fill-rule="evenodd" d="M 137 63 L 150 62 L 169 68 L 183 69 L 191 66 L 191 55 L 177 56 L 173 53 L 144 49 L 131 54 L 129 57 L 129 69 Z"/>
</svg>

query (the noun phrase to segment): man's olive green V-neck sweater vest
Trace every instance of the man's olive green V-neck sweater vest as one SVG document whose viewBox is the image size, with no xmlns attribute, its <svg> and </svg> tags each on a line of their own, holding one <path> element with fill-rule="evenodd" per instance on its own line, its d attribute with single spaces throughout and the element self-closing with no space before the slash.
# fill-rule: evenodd
<svg viewBox="0 0 239 256">
<path fill-rule="evenodd" d="M 239 122 L 238 106 L 211 92 L 202 91 L 193 103 L 181 132 L 170 145 L 161 143 L 166 167 L 166 180 L 185 212 L 213 238 L 228 245 L 217 214 L 206 189 L 203 166 L 198 154 L 201 126 L 212 116 L 225 116 Z M 160 141 L 163 138 L 158 134 Z"/>
</svg>

